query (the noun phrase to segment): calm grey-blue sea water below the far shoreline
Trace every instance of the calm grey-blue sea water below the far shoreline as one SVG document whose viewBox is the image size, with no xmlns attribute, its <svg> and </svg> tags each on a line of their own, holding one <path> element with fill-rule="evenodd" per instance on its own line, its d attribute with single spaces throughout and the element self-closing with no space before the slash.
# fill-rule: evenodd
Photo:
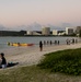
<svg viewBox="0 0 81 82">
<path fill-rule="evenodd" d="M 4 49 L 9 49 L 9 48 L 13 48 L 12 46 L 8 46 L 7 43 L 33 43 L 36 46 L 38 45 L 39 40 L 44 42 L 44 40 L 59 40 L 60 44 L 66 44 L 66 39 L 72 39 L 76 38 L 80 42 L 79 37 L 0 37 L 0 51 L 4 50 Z"/>
</svg>

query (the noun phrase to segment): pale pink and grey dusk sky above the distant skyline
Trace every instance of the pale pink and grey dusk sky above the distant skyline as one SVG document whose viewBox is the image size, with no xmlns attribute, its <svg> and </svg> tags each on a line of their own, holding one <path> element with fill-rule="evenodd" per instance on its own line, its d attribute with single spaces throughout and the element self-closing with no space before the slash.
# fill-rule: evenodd
<svg viewBox="0 0 81 82">
<path fill-rule="evenodd" d="M 81 25 L 81 0 L 0 0 L 0 26 L 36 25 L 56 28 Z"/>
</svg>

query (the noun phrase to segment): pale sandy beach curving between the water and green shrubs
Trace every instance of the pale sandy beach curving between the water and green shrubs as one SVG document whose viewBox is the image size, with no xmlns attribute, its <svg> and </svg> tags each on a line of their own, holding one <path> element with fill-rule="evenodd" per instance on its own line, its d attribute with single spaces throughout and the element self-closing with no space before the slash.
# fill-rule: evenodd
<svg viewBox="0 0 81 82">
<path fill-rule="evenodd" d="M 32 66 L 37 65 L 45 54 L 80 47 L 80 43 L 74 45 L 44 46 L 43 51 L 39 51 L 38 46 L 15 47 L 13 49 L 4 50 L 4 54 L 8 62 L 19 62 L 19 66 Z"/>
</svg>

